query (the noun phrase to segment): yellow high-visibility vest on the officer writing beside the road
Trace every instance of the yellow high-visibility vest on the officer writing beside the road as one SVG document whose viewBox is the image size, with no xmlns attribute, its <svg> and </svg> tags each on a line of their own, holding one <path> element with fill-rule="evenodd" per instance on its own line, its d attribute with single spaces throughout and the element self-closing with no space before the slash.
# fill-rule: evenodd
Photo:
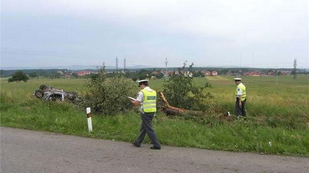
<svg viewBox="0 0 309 173">
<path fill-rule="evenodd" d="M 156 92 L 152 90 L 149 92 L 147 89 L 141 90 L 144 93 L 144 100 L 141 103 L 141 109 L 144 112 L 156 112 Z"/>
</svg>

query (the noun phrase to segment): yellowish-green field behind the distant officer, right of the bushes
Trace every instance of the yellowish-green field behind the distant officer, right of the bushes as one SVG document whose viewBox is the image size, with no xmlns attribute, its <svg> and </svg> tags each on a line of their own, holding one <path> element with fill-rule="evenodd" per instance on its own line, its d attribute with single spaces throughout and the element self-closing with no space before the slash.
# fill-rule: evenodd
<svg viewBox="0 0 309 173">
<path fill-rule="evenodd" d="M 215 80 L 207 77 L 212 89 L 214 102 L 220 108 L 234 110 L 234 89 L 232 77 Z M 217 77 L 218 78 L 218 77 Z M 229 81 L 226 81 L 229 79 Z M 276 77 L 242 77 L 247 91 L 247 111 L 251 120 L 272 128 L 309 128 L 309 76 L 299 75 Z M 224 82 L 223 82 L 224 81 Z M 228 92 L 227 92 L 228 91 Z"/>
</svg>

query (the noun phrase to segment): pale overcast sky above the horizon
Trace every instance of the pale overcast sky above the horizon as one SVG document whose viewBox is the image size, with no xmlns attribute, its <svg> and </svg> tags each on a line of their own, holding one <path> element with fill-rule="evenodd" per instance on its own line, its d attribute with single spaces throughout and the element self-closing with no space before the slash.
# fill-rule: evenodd
<svg viewBox="0 0 309 173">
<path fill-rule="evenodd" d="M 1 67 L 309 67 L 308 0 L 1 0 Z"/>
</svg>

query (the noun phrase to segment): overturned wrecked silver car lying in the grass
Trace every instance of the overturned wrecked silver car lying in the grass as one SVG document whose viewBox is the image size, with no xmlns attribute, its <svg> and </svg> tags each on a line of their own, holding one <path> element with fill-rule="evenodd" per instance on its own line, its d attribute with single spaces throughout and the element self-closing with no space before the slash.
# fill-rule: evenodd
<svg viewBox="0 0 309 173">
<path fill-rule="evenodd" d="M 80 97 L 77 95 L 75 91 L 64 91 L 63 89 L 58 89 L 46 85 L 41 85 L 40 89 L 35 90 L 33 95 L 39 99 L 44 98 L 45 101 L 50 100 L 64 101 L 65 99 L 68 99 L 73 102 L 81 101 Z"/>
</svg>

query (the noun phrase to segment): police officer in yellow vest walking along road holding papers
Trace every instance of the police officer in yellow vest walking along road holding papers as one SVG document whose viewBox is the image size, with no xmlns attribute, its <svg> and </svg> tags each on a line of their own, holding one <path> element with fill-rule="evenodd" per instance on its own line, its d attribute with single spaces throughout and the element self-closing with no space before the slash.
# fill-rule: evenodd
<svg viewBox="0 0 309 173">
<path fill-rule="evenodd" d="M 137 82 L 141 90 L 138 92 L 136 101 L 131 100 L 131 103 L 135 106 L 140 106 L 142 124 L 139 136 L 135 142 L 132 142 L 132 145 L 135 147 L 140 147 L 147 133 L 153 143 L 153 146 L 150 148 L 160 150 L 161 146 L 156 137 L 152 124 L 152 120 L 156 112 L 156 92 L 148 86 L 148 80 L 141 80 Z"/>
</svg>

